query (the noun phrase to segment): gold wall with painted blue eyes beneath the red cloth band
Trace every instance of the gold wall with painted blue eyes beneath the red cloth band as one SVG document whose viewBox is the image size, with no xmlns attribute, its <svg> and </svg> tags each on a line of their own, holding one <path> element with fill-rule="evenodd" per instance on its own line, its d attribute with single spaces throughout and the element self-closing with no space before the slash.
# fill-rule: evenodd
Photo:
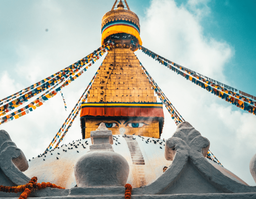
<svg viewBox="0 0 256 199">
<path fill-rule="evenodd" d="M 159 122 L 156 119 L 150 120 L 149 118 L 138 119 L 126 118 L 126 119 L 104 119 L 104 118 L 86 118 L 85 119 L 85 139 L 90 138 L 91 131 L 95 131 L 101 122 L 108 124 L 108 130 L 112 131 L 113 135 L 120 135 L 124 128 L 124 134 L 126 135 L 140 135 L 147 137 L 159 137 Z M 139 127 L 134 128 L 132 123 L 139 124 Z"/>
</svg>

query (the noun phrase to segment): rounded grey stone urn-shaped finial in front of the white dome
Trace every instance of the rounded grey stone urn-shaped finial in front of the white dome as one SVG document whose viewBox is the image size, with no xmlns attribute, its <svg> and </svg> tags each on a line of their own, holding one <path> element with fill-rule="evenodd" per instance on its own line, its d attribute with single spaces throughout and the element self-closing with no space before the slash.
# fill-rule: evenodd
<svg viewBox="0 0 256 199">
<path fill-rule="evenodd" d="M 127 160 L 114 152 L 112 131 L 101 123 L 91 131 L 90 151 L 80 157 L 74 167 L 78 187 L 119 187 L 129 175 Z"/>
</svg>

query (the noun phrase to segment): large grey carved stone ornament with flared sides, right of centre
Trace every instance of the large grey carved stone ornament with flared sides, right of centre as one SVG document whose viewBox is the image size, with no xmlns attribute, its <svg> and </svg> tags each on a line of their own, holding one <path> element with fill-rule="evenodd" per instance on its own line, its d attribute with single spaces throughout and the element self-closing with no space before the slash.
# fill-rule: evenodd
<svg viewBox="0 0 256 199">
<path fill-rule="evenodd" d="M 181 123 L 165 144 L 165 158 L 172 164 L 154 182 L 134 188 L 133 194 L 256 192 L 256 187 L 230 179 L 209 163 L 205 158 L 209 146 L 209 140 L 190 123 Z"/>
</svg>

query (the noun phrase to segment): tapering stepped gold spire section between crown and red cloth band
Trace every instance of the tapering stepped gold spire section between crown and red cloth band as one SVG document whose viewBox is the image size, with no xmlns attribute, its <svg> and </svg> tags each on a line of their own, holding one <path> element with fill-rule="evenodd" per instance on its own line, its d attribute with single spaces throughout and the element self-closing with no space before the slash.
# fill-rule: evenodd
<svg viewBox="0 0 256 199">
<path fill-rule="evenodd" d="M 130 49 L 110 49 L 87 102 L 156 102 L 154 90 Z"/>
</svg>

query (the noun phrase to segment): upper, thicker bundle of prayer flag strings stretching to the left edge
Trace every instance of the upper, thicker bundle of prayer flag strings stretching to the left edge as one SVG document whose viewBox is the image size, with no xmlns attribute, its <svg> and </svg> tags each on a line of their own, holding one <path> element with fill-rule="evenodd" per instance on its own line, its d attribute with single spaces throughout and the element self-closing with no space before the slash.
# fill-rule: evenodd
<svg viewBox="0 0 256 199">
<path fill-rule="evenodd" d="M 79 74 L 75 75 L 75 72 L 78 72 L 82 67 L 84 67 L 85 63 L 87 64 L 92 61 L 92 63 L 89 64 L 88 66 L 91 66 L 92 64 L 94 64 L 94 61 L 98 60 L 99 56 L 102 56 L 105 52 L 107 52 L 106 49 L 108 49 L 109 45 L 113 45 L 113 42 L 108 41 L 107 43 L 102 45 L 100 48 L 95 50 L 93 53 L 87 55 L 85 58 L 77 61 L 76 63 L 70 65 L 69 67 L 63 69 L 62 71 L 59 71 L 57 73 L 58 74 L 57 76 L 56 76 L 56 74 L 52 75 L 52 76 L 54 76 L 54 78 L 50 79 L 49 81 L 45 81 L 46 79 L 42 80 L 40 82 L 40 86 L 37 88 L 34 88 L 33 90 L 31 90 L 33 88 L 33 85 L 32 85 L 32 87 L 30 87 L 28 89 L 28 91 L 30 91 L 30 92 L 28 92 L 26 94 L 24 94 L 25 92 L 22 92 L 24 95 L 22 95 L 21 93 L 18 94 L 18 95 L 22 95 L 21 97 L 14 99 L 15 97 L 17 97 L 17 96 L 15 96 L 15 97 L 11 98 L 11 99 L 14 99 L 12 102 L 4 104 L 3 106 L 0 107 L 0 116 L 5 115 L 7 112 L 11 111 L 12 109 L 15 109 L 18 106 L 22 105 L 24 102 L 27 102 L 28 99 L 32 98 L 33 96 L 37 95 L 38 93 L 48 90 L 50 87 L 54 86 L 56 83 L 60 84 L 63 81 L 63 78 L 65 78 L 65 79 L 70 78 L 70 80 L 68 81 L 69 83 L 71 81 L 74 81 L 74 79 L 76 79 L 76 77 L 78 77 L 78 75 L 79 75 Z M 86 67 L 88 68 L 88 66 L 86 66 Z M 52 76 L 50 76 L 50 77 L 52 77 Z M 37 84 L 34 84 L 34 85 L 37 85 Z M 7 101 L 9 101 L 11 99 L 8 99 Z M 5 101 L 5 102 L 7 102 L 7 101 Z M 5 102 L 2 102 L 2 103 L 5 103 Z"/>
</svg>

